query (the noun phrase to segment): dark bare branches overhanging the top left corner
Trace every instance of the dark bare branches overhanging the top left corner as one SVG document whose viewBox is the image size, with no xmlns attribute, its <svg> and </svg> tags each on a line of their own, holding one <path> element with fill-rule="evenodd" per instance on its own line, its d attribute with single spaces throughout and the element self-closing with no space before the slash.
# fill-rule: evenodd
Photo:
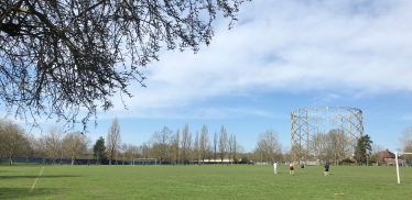
<svg viewBox="0 0 412 200">
<path fill-rule="evenodd" d="M 145 87 L 140 68 L 166 49 L 208 45 L 217 12 L 245 0 L 0 0 L 0 99 L 9 113 L 84 129 L 117 92 Z M 250 0 L 248 0 L 250 1 Z"/>
</svg>

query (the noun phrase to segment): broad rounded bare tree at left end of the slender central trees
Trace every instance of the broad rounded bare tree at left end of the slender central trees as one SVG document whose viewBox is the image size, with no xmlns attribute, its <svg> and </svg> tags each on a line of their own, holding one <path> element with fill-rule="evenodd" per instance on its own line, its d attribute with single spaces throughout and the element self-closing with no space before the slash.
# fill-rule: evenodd
<svg viewBox="0 0 412 200">
<path fill-rule="evenodd" d="M 151 155 L 159 158 L 160 164 L 167 157 L 167 153 L 170 151 L 171 143 L 173 142 L 172 131 L 169 130 L 167 126 L 164 126 L 162 131 L 155 132 L 152 135 L 151 144 L 152 151 L 150 152 Z"/>
</svg>

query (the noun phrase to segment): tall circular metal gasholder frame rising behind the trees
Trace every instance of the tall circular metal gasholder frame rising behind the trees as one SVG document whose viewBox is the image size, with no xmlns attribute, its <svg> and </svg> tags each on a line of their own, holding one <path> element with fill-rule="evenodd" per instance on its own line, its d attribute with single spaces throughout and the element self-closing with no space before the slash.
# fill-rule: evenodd
<svg viewBox="0 0 412 200">
<path fill-rule="evenodd" d="M 310 157 L 310 141 L 314 135 L 341 130 L 349 137 L 349 155 L 354 155 L 353 142 L 364 135 L 362 111 L 349 107 L 315 107 L 291 112 L 291 149 L 301 157 Z M 356 140 L 356 141 L 353 141 Z"/>
</svg>

